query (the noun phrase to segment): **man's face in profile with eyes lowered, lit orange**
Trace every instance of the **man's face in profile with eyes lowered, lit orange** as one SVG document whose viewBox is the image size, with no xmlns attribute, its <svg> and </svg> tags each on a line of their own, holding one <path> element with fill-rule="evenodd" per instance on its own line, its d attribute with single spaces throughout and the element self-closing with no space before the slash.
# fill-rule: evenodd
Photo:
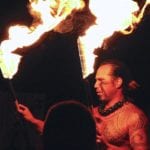
<svg viewBox="0 0 150 150">
<path fill-rule="evenodd" d="M 95 89 L 102 101 L 110 101 L 117 92 L 116 78 L 112 75 L 112 66 L 110 64 L 102 65 L 96 73 Z"/>
</svg>

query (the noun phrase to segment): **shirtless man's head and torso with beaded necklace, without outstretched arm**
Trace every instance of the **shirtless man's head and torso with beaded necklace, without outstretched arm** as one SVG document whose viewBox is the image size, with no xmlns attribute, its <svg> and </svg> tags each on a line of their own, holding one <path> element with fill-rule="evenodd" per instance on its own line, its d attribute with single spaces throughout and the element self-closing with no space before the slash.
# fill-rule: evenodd
<svg viewBox="0 0 150 150">
<path fill-rule="evenodd" d="M 148 118 L 127 97 L 128 90 L 138 86 L 128 68 L 118 60 L 105 60 L 95 79 L 96 93 L 104 104 L 93 109 L 97 141 L 104 149 L 148 150 Z"/>
</svg>

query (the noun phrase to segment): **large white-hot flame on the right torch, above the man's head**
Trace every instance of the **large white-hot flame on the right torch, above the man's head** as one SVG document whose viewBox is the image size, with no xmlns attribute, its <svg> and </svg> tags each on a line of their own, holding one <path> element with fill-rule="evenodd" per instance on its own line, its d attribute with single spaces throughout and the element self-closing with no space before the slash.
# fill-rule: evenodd
<svg viewBox="0 0 150 150">
<path fill-rule="evenodd" d="M 94 49 L 101 47 L 104 40 L 114 32 L 132 33 L 136 24 L 141 21 L 148 4 L 150 0 L 147 0 L 140 10 L 138 4 L 132 0 L 90 0 L 89 7 L 96 16 L 96 24 L 90 26 L 86 34 L 78 39 L 80 53 L 84 56 L 84 59 L 82 58 L 84 77 L 93 72 L 96 57 L 93 54 Z"/>
</svg>

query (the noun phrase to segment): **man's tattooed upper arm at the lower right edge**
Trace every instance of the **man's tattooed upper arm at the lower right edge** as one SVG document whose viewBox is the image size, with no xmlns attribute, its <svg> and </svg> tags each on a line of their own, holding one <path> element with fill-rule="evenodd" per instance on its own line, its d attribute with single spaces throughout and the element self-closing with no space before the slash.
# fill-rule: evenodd
<svg viewBox="0 0 150 150">
<path fill-rule="evenodd" d="M 134 114 L 130 118 L 129 138 L 134 150 L 149 150 L 148 119 L 144 114 Z"/>
</svg>

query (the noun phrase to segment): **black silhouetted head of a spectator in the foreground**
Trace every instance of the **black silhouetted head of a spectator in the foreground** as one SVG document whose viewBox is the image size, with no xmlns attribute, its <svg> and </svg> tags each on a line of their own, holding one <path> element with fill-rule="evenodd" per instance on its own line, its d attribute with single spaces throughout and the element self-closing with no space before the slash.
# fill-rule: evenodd
<svg viewBox="0 0 150 150">
<path fill-rule="evenodd" d="M 94 150 L 96 126 L 86 106 L 62 101 L 50 107 L 43 131 L 44 150 Z"/>
</svg>

